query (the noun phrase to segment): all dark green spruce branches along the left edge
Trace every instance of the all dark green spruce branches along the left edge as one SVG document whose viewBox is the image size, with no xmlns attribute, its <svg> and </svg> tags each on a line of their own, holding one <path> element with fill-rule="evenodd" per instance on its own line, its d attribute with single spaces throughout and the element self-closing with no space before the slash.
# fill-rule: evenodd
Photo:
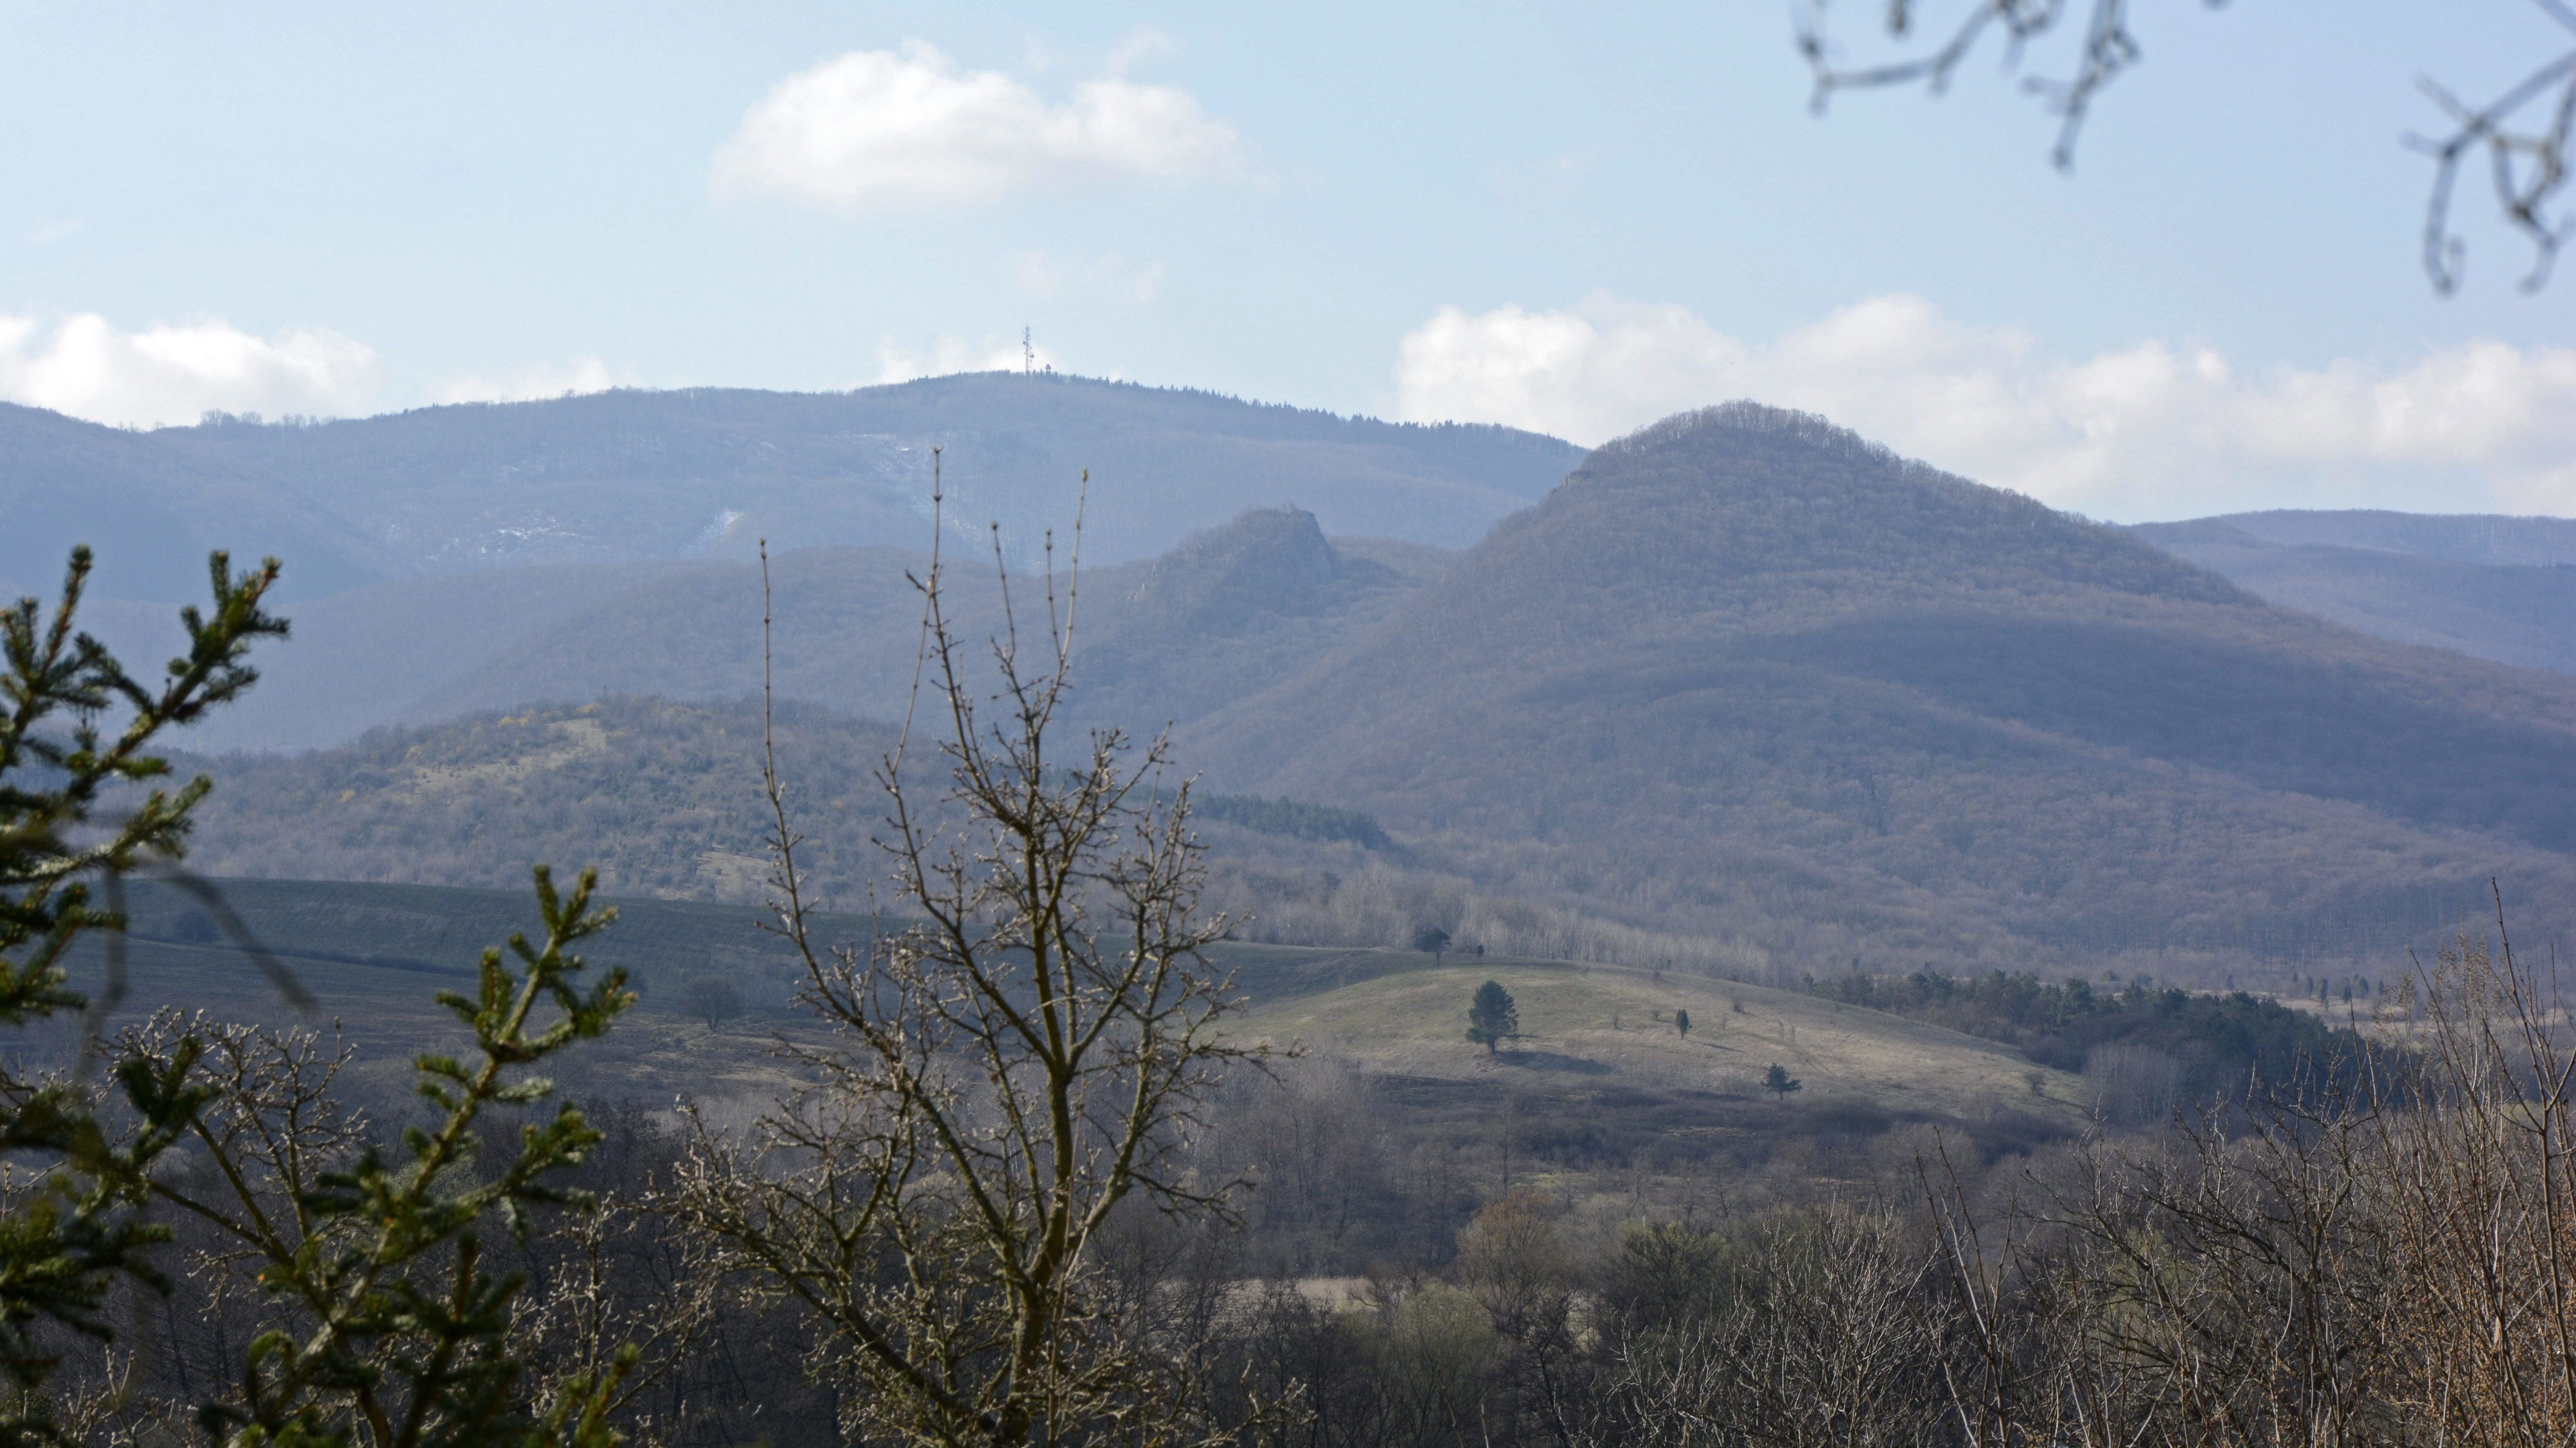
<svg viewBox="0 0 2576 1448">
<path fill-rule="evenodd" d="M 258 678 L 255 639 L 286 634 L 263 611 L 276 559 L 234 575 L 211 564 L 214 600 L 180 621 L 188 652 L 157 683 L 137 680 L 75 631 L 90 554 L 72 554 L 59 603 L 33 598 L 0 613 L 5 716 L 0 716 L 0 1020 L 28 1025 L 80 1010 L 64 956 L 85 935 L 121 935 L 121 881 L 183 853 L 204 776 L 170 788 L 155 739 L 227 703 Z M 64 721 L 64 716 L 70 716 Z M 103 716 L 121 719 L 113 729 Z M 111 799 L 111 788 L 121 791 Z M 111 814 L 108 804 L 118 812 Z M 93 904 L 93 884 L 103 902 Z M 214 1224 L 227 1252 L 260 1262 L 268 1327 L 237 1376 L 214 1386 L 198 1427 L 260 1448 L 322 1448 L 366 1438 L 384 1448 L 608 1448 L 605 1415 L 631 1355 L 598 1373 L 556 1376 L 541 1394 L 510 1350 L 518 1273 L 484 1265 L 497 1221 L 526 1239 L 528 1211 L 582 1206 L 549 1177 L 600 1139 L 564 1103 L 518 1129 L 518 1152 L 479 1165 L 477 1123 L 551 1095 L 528 1067 L 592 1038 L 634 1000 L 608 971 L 580 989 L 564 946 L 613 912 L 590 910 L 592 879 L 559 894 L 536 871 L 544 946 L 513 938 L 523 969 L 487 951 L 477 989 L 440 992 L 471 1031 L 479 1062 L 420 1056 L 420 1098 L 438 1116 L 404 1131 L 399 1149 L 335 1159 L 345 1141 L 332 1103 L 299 1095 L 296 1067 L 227 1072 L 219 1031 L 178 1023 L 126 1033 L 111 1092 L 85 1080 L 26 1077 L 0 1067 L 0 1152 L 28 1180 L 0 1208 L 0 1443 L 62 1443 L 54 1391 L 64 1337 L 116 1337 L 106 1311 L 121 1286 L 170 1293 L 149 1257 L 170 1242 L 155 1206 Z M 116 956 L 111 953 L 111 964 Z M 108 976 L 108 989 L 124 982 Z M 291 982 L 289 982 L 289 989 Z M 95 1043 L 85 1043 L 95 1046 Z M 108 1105 L 113 1095 L 113 1105 Z M 211 1170 L 165 1170 L 175 1149 Z M 108 1394 L 116 1396 L 113 1391 Z M 82 1404 L 95 1407 L 95 1404 Z"/>
</svg>

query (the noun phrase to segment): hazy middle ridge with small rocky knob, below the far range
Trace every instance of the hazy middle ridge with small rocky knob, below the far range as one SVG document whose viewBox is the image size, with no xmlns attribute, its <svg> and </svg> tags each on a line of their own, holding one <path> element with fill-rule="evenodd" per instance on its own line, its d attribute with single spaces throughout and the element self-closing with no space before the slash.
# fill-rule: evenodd
<svg viewBox="0 0 2576 1448">
<path fill-rule="evenodd" d="M 1311 513 L 1257 508 L 1162 559 L 1087 567 L 1074 611 L 1079 714 L 1151 734 L 1267 688 L 1448 557 L 1388 541 L 1337 546 Z M 781 696 L 899 719 L 922 618 L 909 577 L 925 567 L 925 554 L 904 549 L 778 554 L 770 613 Z M 1018 587 L 1020 603 L 1043 616 L 1043 567 L 1020 572 Z M 989 551 L 956 549 L 948 590 L 969 636 L 999 624 Z M 613 693 L 742 698 L 762 678 L 755 562 L 492 569 L 386 582 L 289 613 L 296 636 L 265 652 L 260 688 L 193 732 L 191 747 L 322 747 L 379 724 Z M 167 626 L 160 613 L 152 621 Z"/>
</svg>

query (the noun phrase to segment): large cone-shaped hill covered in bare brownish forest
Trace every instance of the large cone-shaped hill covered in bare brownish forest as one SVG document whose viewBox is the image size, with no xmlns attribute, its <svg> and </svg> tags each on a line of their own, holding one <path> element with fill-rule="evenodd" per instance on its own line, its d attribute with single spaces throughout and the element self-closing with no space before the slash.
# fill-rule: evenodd
<svg viewBox="0 0 2576 1448">
<path fill-rule="evenodd" d="M 2215 974 L 2380 956 L 2488 873 L 2555 928 L 2571 724 L 2571 680 L 2267 608 L 2123 531 L 1734 405 L 1605 446 L 1185 747 L 1226 788 L 1510 840 L 1497 879 L 1662 928 L 1873 966 L 2164 951 Z"/>
</svg>

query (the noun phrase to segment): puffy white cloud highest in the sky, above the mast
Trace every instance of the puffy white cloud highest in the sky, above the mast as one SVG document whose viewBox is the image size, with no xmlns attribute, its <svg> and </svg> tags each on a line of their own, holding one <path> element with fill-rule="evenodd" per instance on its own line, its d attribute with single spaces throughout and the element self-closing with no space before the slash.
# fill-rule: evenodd
<svg viewBox="0 0 2576 1448">
<path fill-rule="evenodd" d="M 1118 67 L 1146 54 L 1121 46 Z M 853 52 L 781 80 L 716 152 L 719 193 L 840 211 L 971 206 L 1108 178 L 1239 175 L 1234 126 L 1170 85 L 1105 75 L 1061 106 L 938 49 Z"/>
</svg>

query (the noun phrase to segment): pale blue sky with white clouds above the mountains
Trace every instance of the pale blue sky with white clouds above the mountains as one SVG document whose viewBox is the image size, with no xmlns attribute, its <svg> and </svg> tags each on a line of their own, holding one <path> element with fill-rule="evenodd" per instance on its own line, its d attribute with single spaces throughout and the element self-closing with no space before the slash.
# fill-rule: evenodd
<svg viewBox="0 0 2576 1448">
<path fill-rule="evenodd" d="M 2081 5 L 2079 5 L 2081 8 Z M 1965 13 L 1917 5 L 1924 31 Z M 2434 77 L 2535 0 L 2141 0 L 2076 167 L 1978 52 L 1811 113 L 1795 10 L 0 5 L 0 399 L 118 425 L 1020 366 L 1600 443 L 1734 397 L 2094 518 L 2576 515 L 2576 273 Z M 1888 54 L 1870 0 L 1824 13 Z"/>
</svg>

